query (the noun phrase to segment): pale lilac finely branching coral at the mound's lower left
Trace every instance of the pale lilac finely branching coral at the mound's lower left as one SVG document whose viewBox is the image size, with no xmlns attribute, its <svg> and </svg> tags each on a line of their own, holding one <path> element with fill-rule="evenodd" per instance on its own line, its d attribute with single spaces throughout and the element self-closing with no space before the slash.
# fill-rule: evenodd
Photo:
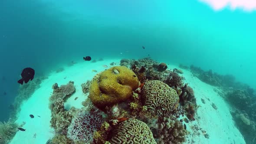
<svg viewBox="0 0 256 144">
<path fill-rule="evenodd" d="M 67 136 L 75 142 L 92 141 L 92 136 L 103 122 L 102 115 L 90 113 L 88 111 L 79 111 L 69 125 Z"/>
</svg>

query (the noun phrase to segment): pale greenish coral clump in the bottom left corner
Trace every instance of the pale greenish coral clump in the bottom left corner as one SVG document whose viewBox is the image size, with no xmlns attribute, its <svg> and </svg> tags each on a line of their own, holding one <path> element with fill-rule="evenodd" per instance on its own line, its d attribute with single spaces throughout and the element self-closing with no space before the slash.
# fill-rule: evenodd
<svg viewBox="0 0 256 144">
<path fill-rule="evenodd" d="M 18 131 L 18 124 L 10 119 L 7 122 L 0 121 L 0 144 L 8 144 Z"/>
</svg>

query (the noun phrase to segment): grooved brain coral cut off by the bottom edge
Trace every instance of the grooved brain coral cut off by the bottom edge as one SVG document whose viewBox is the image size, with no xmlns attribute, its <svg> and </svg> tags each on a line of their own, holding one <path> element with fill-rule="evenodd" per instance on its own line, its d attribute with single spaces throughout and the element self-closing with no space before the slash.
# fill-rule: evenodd
<svg viewBox="0 0 256 144">
<path fill-rule="evenodd" d="M 128 119 L 112 127 L 111 144 L 156 144 L 147 124 L 137 119 Z"/>
</svg>

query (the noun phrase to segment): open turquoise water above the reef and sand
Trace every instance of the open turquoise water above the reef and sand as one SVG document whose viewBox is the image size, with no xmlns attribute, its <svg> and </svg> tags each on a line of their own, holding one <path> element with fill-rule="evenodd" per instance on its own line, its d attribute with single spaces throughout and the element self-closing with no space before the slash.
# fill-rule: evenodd
<svg viewBox="0 0 256 144">
<path fill-rule="evenodd" d="M 42 76 L 83 56 L 149 55 L 232 74 L 256 88 L 255 16 L 197 0 L 1 0 L 0 120 L 8 119 L 24 67 Z"/>
</svg>

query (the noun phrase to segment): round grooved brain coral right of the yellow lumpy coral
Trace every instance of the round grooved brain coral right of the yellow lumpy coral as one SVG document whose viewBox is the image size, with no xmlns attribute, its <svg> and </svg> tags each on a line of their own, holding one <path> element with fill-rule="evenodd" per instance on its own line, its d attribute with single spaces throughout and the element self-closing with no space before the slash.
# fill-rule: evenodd
<svg viewBox="0 0 256 144">
<path fill-rule="evenodd" d="M 145 82 L 141 89 L 143 105 L 152 116 L 162 116 L 175 109 L 179 102 L 177 92 L 161 81 Z"/>
</svg>

